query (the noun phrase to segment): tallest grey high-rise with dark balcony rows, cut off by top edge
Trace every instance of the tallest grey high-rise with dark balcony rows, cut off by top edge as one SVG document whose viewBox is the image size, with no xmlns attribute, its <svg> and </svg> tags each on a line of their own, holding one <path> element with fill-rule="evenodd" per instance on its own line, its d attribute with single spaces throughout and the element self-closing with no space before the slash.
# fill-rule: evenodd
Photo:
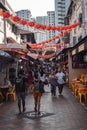
<svg viewBox="0 0 87 130">
<path fill-rule="evenodd" d="M 67 14 L 70 0 L 55 0 L 55 26 L 64 25 L 64 18 Z M 59 32 L 56 32 L 56 35 Z"/>
</svg>

